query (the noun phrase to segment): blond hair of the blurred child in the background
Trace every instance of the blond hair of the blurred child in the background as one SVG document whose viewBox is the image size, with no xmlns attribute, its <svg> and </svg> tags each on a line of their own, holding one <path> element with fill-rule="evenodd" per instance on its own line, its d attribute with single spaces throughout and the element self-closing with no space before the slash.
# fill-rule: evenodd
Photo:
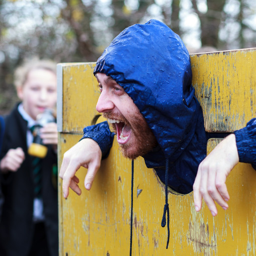
<svg viewBox="0 0 256 256">
<path fill-rule="evenodd" d="M 52 60 L 39 60 L 38 58 L 24 61 L 24 63 L 15 70 L 15 87 L 22 87 L 27 80 L 29 72 L 34 69 L 45 69 L 56 74 L 56 63 Z"/>
</svg>

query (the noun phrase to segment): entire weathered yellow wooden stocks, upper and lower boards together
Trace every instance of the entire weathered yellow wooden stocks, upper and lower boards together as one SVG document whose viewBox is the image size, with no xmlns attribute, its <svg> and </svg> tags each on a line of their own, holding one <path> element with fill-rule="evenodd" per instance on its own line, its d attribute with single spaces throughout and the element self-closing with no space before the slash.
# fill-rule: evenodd
<svg viewBox="0 0 256 256">
<path fill-rule="evenodd" d="M 208 131 L 233 131 L 253 117 L 255 54 L 256 49 L 191 56 L 193 84 Z M 59 163 L 64 152 L 79 141 L 83 127 L 95 123 L 99 92 L 93 66 L 62 66 L 63 132 L 59 134 Z M 211 139 L 208 150 L 217 143 L 217 139 Z M 129 254 L 131 161 L 121 156 L 114 141 L 89 192 L 83 185 L 85 173 L 84 168 L 77 173 L 81 196 L 71 191 L 65 200 L 59 181 L 60 255 Z M 154 170 L 147 169 L 142 158 L 137 159 L 133 255 L 255 255 L 255 184 L 256 172 L 251 166 L 238 164 L 227 178 L 229 209 L 217 207 L 216 217 L 204 204 L 199 213 L 195 212 L 193 193 L 179 195 L 170 191 L 171 236 L 166 249 L 167 231 L 161 227 L 164 186 Z"/>
</svg>

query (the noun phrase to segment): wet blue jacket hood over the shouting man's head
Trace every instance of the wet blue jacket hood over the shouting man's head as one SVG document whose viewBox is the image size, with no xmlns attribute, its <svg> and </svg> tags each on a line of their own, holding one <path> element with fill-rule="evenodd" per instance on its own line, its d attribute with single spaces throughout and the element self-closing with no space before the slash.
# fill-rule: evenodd
<svg viewBox="0 0 256 256">
<path fill-rule="evenodd" d="M 133 99 L 166 158 L 175 161 L 191 141 L 198 109 L 189 53 L 157 20 L 122 31 L 96 63 L 94 75 L 111 76 Z"/>
</svg>

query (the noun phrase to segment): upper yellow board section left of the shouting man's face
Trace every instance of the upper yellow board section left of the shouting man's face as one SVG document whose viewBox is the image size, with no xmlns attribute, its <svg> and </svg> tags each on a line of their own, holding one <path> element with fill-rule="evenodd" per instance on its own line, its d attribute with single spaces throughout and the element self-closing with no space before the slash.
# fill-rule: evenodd
<svg viewBox="0 0 256 256">
<path fill-rule="evenodd" d="M 63 66 L 63 132 L 81 133 L 85 125 L 95 123 L 99 90 L 92 76 L 94 66 L 95 63 Z"/>
</svg>

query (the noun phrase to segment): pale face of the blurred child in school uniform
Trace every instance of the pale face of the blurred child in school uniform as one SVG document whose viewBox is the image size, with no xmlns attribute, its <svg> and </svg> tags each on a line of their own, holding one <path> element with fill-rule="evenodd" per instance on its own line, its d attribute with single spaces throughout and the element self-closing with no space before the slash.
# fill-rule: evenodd
<svg viewBox="0 0 256 256">
<path fill-rule="evenodd" d="M 56 74 L 46 69 L 31 70 L 25 84 L 17 91 L 25 111 L 36 120 L 45 108 L 54 108 L 56 105 Z"/>
</svg>

